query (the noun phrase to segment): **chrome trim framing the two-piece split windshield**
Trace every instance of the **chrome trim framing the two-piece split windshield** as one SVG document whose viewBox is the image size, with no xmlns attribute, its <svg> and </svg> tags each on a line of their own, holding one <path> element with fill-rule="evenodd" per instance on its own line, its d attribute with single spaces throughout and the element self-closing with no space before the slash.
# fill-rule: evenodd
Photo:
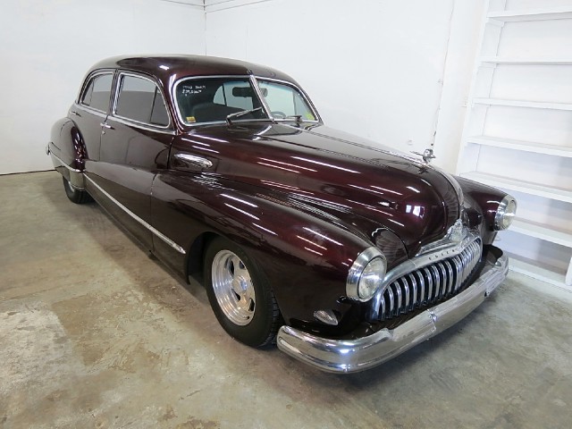
<svg viewBox="0 0 572 429">
<path fill-rule="evenodd" d="M 249 80 L 252 84 L 252 80 L 254 80 L 257 85 L 255 86 L 255 91 L 257 92 L 258 97 L 261 97 L 262 94 L 260 93 L 260 87 L 258 86 L 258 81 L 271 81 L 271 82 L 277 82 L 277 83 L 282 83 L 284 85 L 290 86 L 292 88 L 295 88 L 296 90 L 299 91 L 300 95 L 304 98 L 304 101 L 306 101 L 307 105 L 310 107 L 310 109 L 312 110 L 312 113 L 315 115 L 315 121 L 309 121 L 309 120 L 305 120 L 304 122 L 313 122 L 313 123 L 321 123 L 322 122 L 322 118 L 320 117 L 320 115 L 317 113 L 316 109 L 315 109 L 315 105 L 314 103 L 312 103 L 312 101 L 310 100 L 309 97 L 307 97 L 307 94 L 304 90 L 302 90 L 302 88 L 299 88 L 298 85 L 294 85 L 293 83 L 287 81 L 287 80 L 280 80 L 280 79 L 274 79 L 274 78 L 264 78 L 261 76 L 256 76 L 254 74 L 213 74 L 213 75 L 206 75 L 206 76 L 186 76 L 184 78 L 181 78 L 179 80 L 175 80 L 174 83 L 171 86 L 171 99 L 172 99 L 172 104 L 174 106 L 175 112 L 177 114 L 177 120 L 179 122 L 181 122 L 181 125 L 184 127 L 198 127 L 201 125 L 212 125 L 212 124 L 216 124 L 216 123 L 226 123 L 225 121 L 213 121 L 213 122 L 198 122 L 198 123 L 187 123 L 183 120 L 182 115 L 181 115 L 181 110 L 179 109 L 179 103 L 177 101 L 177 95 L 175 93 L 175 88 L 177 88 L 183 81 L 185 80 L 200 80 L 200 79 L 245 79 L 245 80 Z M 257 122 L 263 122 L 263 121 L 274 121 L 274 122 L 290 122 L 290 121 L 284 121 L 283 119 L 275 119 L 273 118 L 271 112 L 270 112 L 270 108 L 268 107 L 268 105 L 266 105 L 265 99 L 264 97 L 261 97 L 262 100 L 262 105 L 263 108 L 266 112 L 266 114 L 269 115 L 269 117 L 267 119 L 262 119 L 262 120 L 257 120 Z M 267 110 L 266 110 L 267 109 Z M 255 122 L 251 119 L 235 119 L 232 122 Z"/>
</svg>

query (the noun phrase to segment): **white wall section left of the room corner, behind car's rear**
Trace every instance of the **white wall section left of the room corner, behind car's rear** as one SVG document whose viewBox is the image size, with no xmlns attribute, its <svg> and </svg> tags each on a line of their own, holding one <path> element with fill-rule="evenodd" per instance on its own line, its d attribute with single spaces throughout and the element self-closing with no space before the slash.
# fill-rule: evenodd
<svg viewBox="0 0 572 429">
<path fill-rule="evenodd" d="M 203 2 L 187 3 L 4 0 L 0 174 L 52 168 L 44 152 L 52 124 L 66 114 L 85 72 L 98 60 L 121 54 L 204 54 Z"/>
</svg>

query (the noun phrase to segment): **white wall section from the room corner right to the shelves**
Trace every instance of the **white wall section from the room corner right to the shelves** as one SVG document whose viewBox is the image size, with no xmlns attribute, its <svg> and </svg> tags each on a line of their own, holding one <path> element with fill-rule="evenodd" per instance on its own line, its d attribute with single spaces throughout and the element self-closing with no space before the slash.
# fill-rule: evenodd
<svg viewBox="0 0 572 429">
<path fill-rule="evenodd" d="M 452 172 L 483 12 L 465 0 L 206 0 L 206 54 L 286 71 L 326 124 L 402 151 L 434 143 Z"/>
</svg>

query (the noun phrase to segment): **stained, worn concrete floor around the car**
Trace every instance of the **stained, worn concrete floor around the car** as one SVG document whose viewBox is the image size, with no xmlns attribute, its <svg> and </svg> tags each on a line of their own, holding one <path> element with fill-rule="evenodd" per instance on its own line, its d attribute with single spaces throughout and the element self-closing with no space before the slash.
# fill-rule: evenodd
<svg viewBox="0 0 572 429">
<path fill-rule="evenodd" d="M 0 201 L 0 427 L 572 425 L 572 301 L 543 283 L 511 273 L 432 341 L 324 374 L 229 338 L 57 172 L 0 177 Z"/>
</svg>

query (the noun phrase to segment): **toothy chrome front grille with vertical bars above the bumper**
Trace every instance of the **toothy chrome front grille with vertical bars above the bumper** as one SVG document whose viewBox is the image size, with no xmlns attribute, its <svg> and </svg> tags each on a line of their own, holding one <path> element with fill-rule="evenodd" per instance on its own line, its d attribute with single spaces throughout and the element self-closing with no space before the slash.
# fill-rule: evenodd
<svg viewBox="0 0 572 429">
<path fill-rule="evenodd" d="M 383 292 L 379 320 L 404 315 L 458 294 L 480 259 L 481 241 L 474 240 L 455 257 L 402 275 Z"/>
</svg>

